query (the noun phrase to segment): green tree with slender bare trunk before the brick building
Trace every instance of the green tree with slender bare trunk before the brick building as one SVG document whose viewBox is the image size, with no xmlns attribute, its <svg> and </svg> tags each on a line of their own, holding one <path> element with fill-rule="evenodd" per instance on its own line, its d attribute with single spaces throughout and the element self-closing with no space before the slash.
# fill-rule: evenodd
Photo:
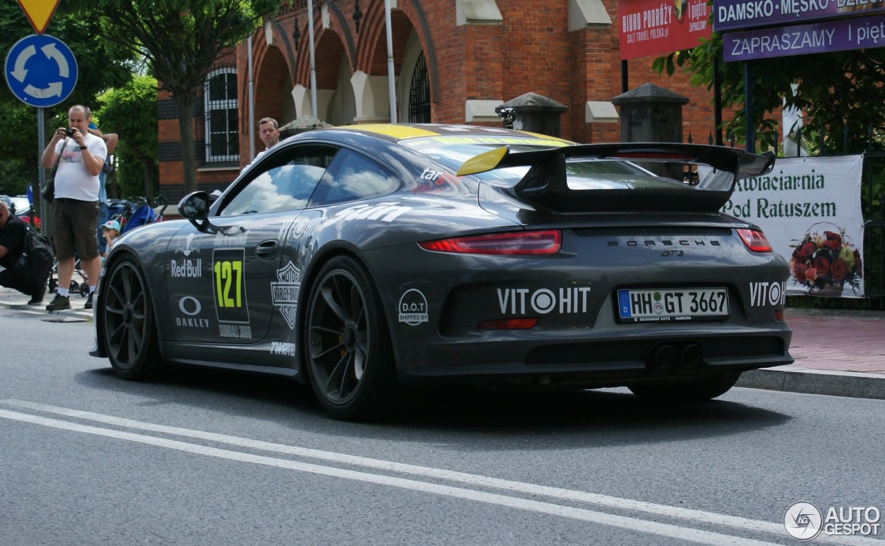
<svg viewBox="0 0 885 546">
<path fill-rule="evenodd" d="M 96 21 L 96 33 L 146 58 L 150 75 L 178 108 L 186 192 L 196 189 L 194 107 L 206 76 L 273 14 L 279 0 L 70 0 L 68 9 Z"/>
</svg>

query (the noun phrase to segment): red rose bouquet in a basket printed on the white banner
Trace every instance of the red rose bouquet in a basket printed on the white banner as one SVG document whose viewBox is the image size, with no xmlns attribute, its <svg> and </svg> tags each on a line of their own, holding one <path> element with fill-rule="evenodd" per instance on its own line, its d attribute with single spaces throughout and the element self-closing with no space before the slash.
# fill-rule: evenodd
<svg viewBox="0 0 885 546">
<path fill-rule="evenodd" d="M 793 277 L 812 295 L 840 295 L 846 283 L 857 292 L 864 273 L 860 253 L 851 246 L 843 228 L 834 225 L 835 231 L 821 233 L 815 229 L 819 225 L 812 225 L 801 241 L 790 245 L 796 249 L 789 260 Z"/>
</svg>

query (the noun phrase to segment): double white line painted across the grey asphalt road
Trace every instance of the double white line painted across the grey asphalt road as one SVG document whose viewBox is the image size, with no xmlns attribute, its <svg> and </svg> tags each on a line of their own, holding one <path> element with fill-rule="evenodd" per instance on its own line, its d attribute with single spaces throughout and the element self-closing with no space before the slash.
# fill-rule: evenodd
<svg viewBox="0 0 885 546">
<path fill-rule="evenodd" d="M 441 468 L 433 468 L 428 466 L 415 466 L 408 465 L 404 463 L 397 463 L 394 461 L 386 461 L 381 459 L 369 459 L 366 457 L 358 457 L 354 455 L 346 455 L 343 453 L 335 453 L 333 451 L 319 451 L 313 450 L 309 448 L 296 447 L 293 445 L 286 444 L 274 444 L 270 442 L 263 442 L 260 440 L 252 440 L 249 438 L 242 438 L 238 436 L 227 436 L 223 434 L 217 434 L 212 432 L 206 432 L 203 430 L 195 430 L 191 428 L 179 428 L 179 427 L 168 427 L 165 425 L 158 425 L 143 421 L 134 421 L 131 419 L 114 417 L 112 415 L 104 415 L 102 413 L 92 413 L 92 412 L 84 412 L 81 410 L 74 410 L 64 407 L 58 406 L 49 406 L 45 404 L 40 404 L 37 402 L 29 402 L 26 400 L 17 400 L 14 398 L 7 398 L 0 400 L 0 403 L 7 406 L 17 406 L 20 408 L 27 408 L 35 411 L 40 411 L 44 413 L 54 413 L 58 415 L 64 415 L 66 417 L 72 417 L 76 419 L 88 420 L 88 421 L 96 421 L 105 423 L 108 425 L 118 426 L 118 427 L 126 427 L 126 428 L 135 428 L 137 430 L 147 430 L 150 432 L 157 432 L 161 434 L 169 434 L 174 436 L 184 436 L 194 439 L 207 440 L 219 444 L 228 444 L 235 445 L 242 448 L 249 448 L 254 450 L 262 450 L 262 451 L 271 451 L 276 453 L 282 453 L 287 455 L 294 455 L 299 457 L 306 457 L 311 459 L 320 459 L 326 460 L 333 463 L 338 464 L 346 464 L 351 466 L 362 466 L 366 468 L 372 468 L 375 470 L 387 471 L 387 472 L 396 472 L 402 474 L 412 474 L 425 478 L 434 478 L 439 480 L 446 480 L 450 482 L 458 482 L 465 483 L 467 485 L 471 485 L 474 487 L 486 487 L 486 488 L 494 488 L 494 489 L 504 489 L 519 493 L 524 493 L 527 495 L 535 495 L 535 496 L 543 496 L 543 497 L 551 497 L 559 500 L 567 500 L 573 502 L 581 502 L 587 504 L 596 504 L 600 506 L 604 506 L 612 509 L 619 510 L 629 510 L 633 512 L 645 512 L 656 516 L 666 516 L 674 519 L 684 519 L 690 521 L 694 524 L 712 524 L 716 526 L 722 527 L 734 527 L 737 529 L 741 529 L 743 531 L 750 531 L 756 533 L 769 533 L 773 535 L 777 535 L 779 537 L 787 537 L 786 530 L 783 527 L 782 523 L 773 523 L 769 521 L 763 521 L 759 519 L 748 519 L 741 518 L 737 516 L 730 516 L 727 514 L 720 514 L 717 512 L 706 512 L 700 510 L 692 510 L 688 508 L 679 508 L 676 506 L 669 506 L 666 504 L 654 504 L 648 503 L 644 501 L 638 501 L 628 498 L 621 497 L 610 497 L 607 495 L 599 495 L 596 493 L 589 493 L 585 491 L 578 491 L 573 489 L 560 489 L 543 485 L 536 485 L 532 483 L 524 483 L 524 482 L 513 482 L 510 480 L 501 480 L 498 478 L 492 478 L 489 476 L 482 476 L 478 474 L 466 474 L 461 472 L 455 472 L 450 470 L 444 470 Z M 347 471 L 339 468 L 327 467 L 327 466 L 318 466 L 312 465 L 309 463 L 298 463 L 296 461 L 290 461 L 286 459 L 273 459 L 269 457 L 263 457 L 258 455 L 250 455 L 246 453 L 240 453 L 237 451 L 227 451 L 220 450 L 217 448 L 206 447 L 196 444 L 187 444 L 183 442 L 178 442 L 175 440 L 167 440 L 165 438 L 159 438 L 156 436 L 143 436 L 137 435 L 127 432 L 121 432 L 117 430 L 110 430 L 104 428 L 95 428 L 86 425 L 79 425 L 76 423 L 70 423 L 67 421 L 57 421 L 52 419 L 45 419 L 42 417 L 28 415 L 26 413 L 15 413 L 15 412 L 7 412 L 5 410 L 0 410 L 0 417 L 6 417 L 8 419 L 14 419 L 17 421 L 27 421 L 34 422 L 35 424 L 42 424 L 44 426 L 50 426 L 55 428 L 66 428 L 70 430 L 76 430 L 80 432 L 87 432 L 89 434 L 96 434 L 100 436 L 112 436 L 118 437 L 120 439 L 125 439 L 134 442 L 140 442 L 142 444 L 154 444 L 161 447 L 168 447 L 171 449 L 178 449 L 181 451 L 190 451 L 195 453 L 200 453 L 212 457 L 220 457 L 223 459 L 234 459 L 234 460 L 242 460 L 244 462 L 252 462 L 257 464 L 264 464 L 270 466 L 280 466 L 285 468 L 290 468 L 294 470 L 300 470 L 303 472 L 310 472 L 313 474 L 325 474 L 325 475 L 334 475 L 338 477 L 344 477 L 354 480 L 360 480 L 364 482 L 374 482 L 384 485 L 390 485 L 394 487 L 401 487 L 404 489 L 414 489 L 425 491 L 429 493 L 437 493 L 440 495 L 447 495 L 450 497 L 461 497 L 472 500 L 477 500 L 480 502 L 486 502 L 489 504 L 499 504 L 504 506 L 511 506 L 513 508 L 520 508 L 524 510 L 531 510 L 534 512 L 543 512 L 550 513 L 555 515 L 560 515 L 563 517 L 569 517 L 573 519 L 584 519 L 587 521 L 593 521 L 596 523 L 603 523 L 605 525 L 611 525 L 613 527 L 621 527 L 627 529 L 635 529 L 639 531 L 643 531 L 646 533 L 654 534 L 654 535 L 662 535 L 662 536 L 673 536 L 675 538 L 684 538 L 686 540 L 691 540 L 692 542 L 702 542 L 702 543 L 713 543 L 713 544 L 763 544 L 767 542 L 758 542 L 750 539 L 743 539 L 740 537 L 734 537 L 731 535 L 720 535 L 717 533 L 710 533 L 707 531 L 701 531 L 699 529 L 692 529 L 689 527 L 680 527 L 673 526 L 668 524 L 659 524 L 657 522 L 646 521 L 644 519 L 635 519 L 628 518 L 625 516 L 616 516 L 612 514 L 606 514 L 603 512 L 592 512 L 585 511 L 582 509 L 575 509 L 567 506 L 561 506 L 558 504 L 549 504 L 549 503 L 540 503 L 538 501 L 530 501 L 527 499 L 519 499 L 514 497 L 505 497 L 502 495 L 496 495 L 493 493 L 483 493 L 481 491 L 473 491 L 467 489 L 459 489 L 452 488 L 450 486 L 437 485 L 433 483 L 426 482 L 415 482 L 412 480 L 406 480 L 403 478 L 396 478 L 393 476 L 379 476 L 377 474 L 365 474 L 357 471 Z M 440 488 L 437 490 L 437 488 Z M 507 500 L 504 500 L 507 499 Z M 537 506 L 535 506 L 537 504 Z M 555 507 L 555 508 L 553 508 Z M 675 530 L 673 530 L 675 529 Z M 675 532 L 676 535 L 671 535 L 671 532 Z M 696 538 L 690 538 L 686 533 L 697 533 L 700 535 L 693 535 Z M 709 535 L 709 536 L 708 536 Z M 703 538 L 702 538 L 703 537 Z M 713 542 L 707 542 L 708 540 L 712 540 Z M 723 542 L 725 541 L 725 542 Z M 735 542 L 737 541 L 737 542 Z M 815 539 L 815 542 L 832 542 L 839 544 L 874 544 L 876 546 L 881 546 L 882 542 L 877 539 L 870 539 L 862 536 L 830 536 L 830 535 L 818 535 Z"/>
</svg>

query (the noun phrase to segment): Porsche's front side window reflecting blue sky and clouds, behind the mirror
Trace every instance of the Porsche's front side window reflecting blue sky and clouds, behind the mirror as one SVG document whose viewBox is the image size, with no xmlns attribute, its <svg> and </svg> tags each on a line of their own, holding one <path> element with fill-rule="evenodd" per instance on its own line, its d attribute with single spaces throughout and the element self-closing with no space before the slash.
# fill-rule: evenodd
<svg viewBox="0 0 885 546">
<path fill-rule="evenodd" d="M 316 147 L 280 150 L 250 172 L 250 178 L 244 179 L 219 209 L 219 216 L 304 209 L 335 151 Z"/>
</svg>

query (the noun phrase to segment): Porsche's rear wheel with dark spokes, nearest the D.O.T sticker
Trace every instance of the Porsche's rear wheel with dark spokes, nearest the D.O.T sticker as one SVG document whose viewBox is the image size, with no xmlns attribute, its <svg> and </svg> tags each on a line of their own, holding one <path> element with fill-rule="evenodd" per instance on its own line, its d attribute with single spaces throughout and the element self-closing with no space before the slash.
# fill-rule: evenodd
<svg viewBox="0 0 885 546">
<path fill-rule="evenodd" d="M 381 298 L 366 270 L 347 256 L 327 262 L 304 318 L 304 359 L 319 404 L 348 421 L 388 413 L 396 366 Z"/>
</svg>

